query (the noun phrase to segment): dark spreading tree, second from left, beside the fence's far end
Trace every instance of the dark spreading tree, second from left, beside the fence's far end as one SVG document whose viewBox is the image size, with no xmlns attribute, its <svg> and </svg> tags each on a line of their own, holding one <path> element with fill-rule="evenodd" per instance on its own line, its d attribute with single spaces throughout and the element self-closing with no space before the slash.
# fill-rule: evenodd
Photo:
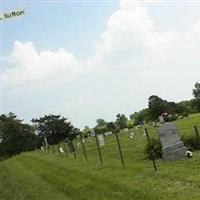
<svg viewBox="0 0 200 200">
<path fill-rule="evenodd" d="M 45 115 L 38 119 L 32 119 L 36 124 L 39 137 L 44 141 L 47 138 L 48 144 L 58 144 L 66 138 L 73 140 L 76 137 L 76 129 L 67 118 L 60 115 Z"/>
</svg>

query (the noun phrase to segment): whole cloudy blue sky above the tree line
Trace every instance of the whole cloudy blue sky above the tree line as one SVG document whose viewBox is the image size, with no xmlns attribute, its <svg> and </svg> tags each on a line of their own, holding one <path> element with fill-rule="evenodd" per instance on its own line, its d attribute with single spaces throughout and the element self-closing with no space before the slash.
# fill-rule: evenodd
<svg viewBox="0 0 200 200">
<path fill-rule="evenodd" d="M 61 114 L 79 128 L 129 116 L 150 95 L 191 99 L 200 1 L 1 1 L 1 113 Z"/>
</svg>

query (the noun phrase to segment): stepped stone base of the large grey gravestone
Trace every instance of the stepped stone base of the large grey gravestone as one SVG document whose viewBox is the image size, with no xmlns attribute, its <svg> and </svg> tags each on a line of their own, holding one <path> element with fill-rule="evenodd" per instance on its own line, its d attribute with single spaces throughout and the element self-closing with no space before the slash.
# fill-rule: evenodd
<svg viewBox="0 0 200 200">
<path fill-rule="evenodd" d="M 165 146 L 163 150 L 163 159 L 165 161 L 175 161 L 185 158 L 187 148 L 183 145 L 183 142 L 178 142 L 173 145 Z"/>
</svg>

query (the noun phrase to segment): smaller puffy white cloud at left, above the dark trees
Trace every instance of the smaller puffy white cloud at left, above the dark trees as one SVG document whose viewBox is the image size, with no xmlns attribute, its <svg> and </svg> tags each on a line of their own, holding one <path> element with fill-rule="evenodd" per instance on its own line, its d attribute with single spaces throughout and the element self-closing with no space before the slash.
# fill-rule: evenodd
<svg viewBox="0 0 200 200">
<path fill-rule="evenodd" d="M 72 53 L 62 48 L 56 52 L 37 52 L 32 42 L 20 41 L 15 41 L 9 63 L 12 67 L 6 71 L 4 78 L 10 87 L 65 78 L 79 72 L 81 65 Z"/>
</svg>

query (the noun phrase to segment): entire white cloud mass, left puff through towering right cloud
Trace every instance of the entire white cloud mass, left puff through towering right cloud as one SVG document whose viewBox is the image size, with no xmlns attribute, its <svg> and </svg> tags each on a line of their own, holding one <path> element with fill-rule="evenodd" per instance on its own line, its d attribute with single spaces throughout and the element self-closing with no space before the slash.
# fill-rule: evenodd
<svg viewBox="0 0 200 200">
<path fill-rule="evenodd" d="M 33 43 L 16 41 L 12 67 L 4 76 L 10 86 L 37 83 L 43 88 L 45 81 L 59 82 L 67 92 L 57 95 L 50 111 L 70 112 L 81 125 L 97 116 L 130 114 L 151 94 L 174 101 L 191 98 L 200 74 L 200 20 L 185 32 L 156 30 L 147 6 L 121 0 L 93 57 L 81 61 L 64 49 L 38 52 Z M 52 90 L 56 86 L 46 94 Z"/>
</svg>

